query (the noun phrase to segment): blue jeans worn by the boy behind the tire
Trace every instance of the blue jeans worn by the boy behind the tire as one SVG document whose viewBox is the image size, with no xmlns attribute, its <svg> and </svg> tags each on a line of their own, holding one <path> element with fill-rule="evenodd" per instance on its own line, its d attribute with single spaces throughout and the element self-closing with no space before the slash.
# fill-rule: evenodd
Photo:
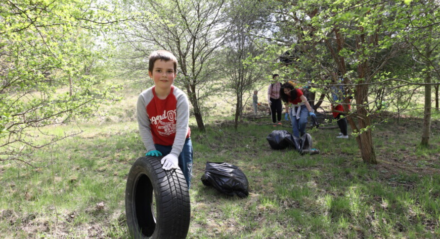
<svg viewBox="0 0 440 239">
<path fill-rule="evenodd" d="M 171 152 L 172 146 L 163 146 L 154 144 L 156 150 L 162 153 L 163 156 Z M 193 171 L 193 144 L 191 138 L 185 139 L 185 144 L 182 152 L 179 155 L 179 168 L 182 170 L 188 184 L 188 189 L 191 186 L 191 175 Z"/>
</svg>

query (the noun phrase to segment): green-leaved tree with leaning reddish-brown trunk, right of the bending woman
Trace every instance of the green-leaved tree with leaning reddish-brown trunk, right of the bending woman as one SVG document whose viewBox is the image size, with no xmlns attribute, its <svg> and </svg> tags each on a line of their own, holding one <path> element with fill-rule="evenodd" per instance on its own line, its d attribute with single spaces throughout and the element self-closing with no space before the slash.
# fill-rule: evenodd
<svg viewBox="0 0 440 239">
<path fill-rule="evenodd" d="M 385 72 L 384 67 L 408 49 L 398 33 L 406 31 L 405 23 L 400 20 L 409 7 L 400 1 L 315 1 L 314 4 L 273 1 L 273 4 L 273 13 L 279 19 L 275 26 L 280 29 L 273 38 L 277 42 L 290 41 L 290 51 L 301 53 L 291 68 L 302 74 L 307 69 L 325 74 L 337 71 L 343 76 L 344 91 L 354 93 L 354 109 L 347 119 L 356 135 L 362 159 L 376 164 L 370 113 L 371 103 L 377 99 L 369 99 L 370 87 L 394 80 L 387 77 L 389 72 Z M 322 59 L 329 58 L 332 64 L 323 64 Z M 405 76 L 397 79 L 407 83 L 395 89 L 412 84 L 412 79 Z M 327 84 L 318 77 L 312 81 Z M 344 102 L 346 113 L 348 101 L 346 98 Z"/>
</svg>

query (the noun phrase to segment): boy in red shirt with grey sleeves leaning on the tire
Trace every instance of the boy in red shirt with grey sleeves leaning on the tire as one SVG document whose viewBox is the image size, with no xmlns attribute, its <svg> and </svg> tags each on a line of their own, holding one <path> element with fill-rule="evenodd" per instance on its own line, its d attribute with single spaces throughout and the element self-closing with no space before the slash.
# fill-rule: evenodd
<svg viewBox="0 0 440 239">
<path fill-rule="evenodd" d="M 193 162 L 188 126 L 190 112 L 187 95 L 172 85 L 177 75 L 177 59 L 164 50 L 151 53 L 148 74 L 154 86 L 139 95 L 137 105 L 139 133 L 146 156 L 165 155 L 162 168 L 180 167 L 189 188 Z"/>
</svg>

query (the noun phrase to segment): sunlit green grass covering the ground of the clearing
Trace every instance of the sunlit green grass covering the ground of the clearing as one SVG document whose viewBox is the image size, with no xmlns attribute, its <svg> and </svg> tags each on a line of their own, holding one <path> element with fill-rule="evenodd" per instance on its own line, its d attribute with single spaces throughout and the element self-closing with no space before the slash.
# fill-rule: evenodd
<svg viewBox="0 0 440 239">
<path fill-rule="evenodd" d="M 144 148 L 130 108 L 137 97 L 130 89 L 123 94 L 130 97 L 102 109 L 108 115 L 81 122 L 83 133 L 38 152 L 36 168 L 0 164 L 1 238 L 129 238 L 125 182 Z M 275 129 L 265 124 L 269 117 L 246 120 L 238 131 L 215 112 L 210 118 L 206 133 L 191 121 L 188 238 L 440 237 L 440 122 L 433 123 L 432 147 L 419 149 L 420 118 L 374 119 L 382 122 L 373 132 L 380 164 L 366 165 L 356 140 L 336 140 L 337 129 L 309 131 L 321 154 L 300 156 L 269 147 L 266 136 Z M 204 186 L 207 161 L 240 167 L 249 197 Z"/>
</svg>

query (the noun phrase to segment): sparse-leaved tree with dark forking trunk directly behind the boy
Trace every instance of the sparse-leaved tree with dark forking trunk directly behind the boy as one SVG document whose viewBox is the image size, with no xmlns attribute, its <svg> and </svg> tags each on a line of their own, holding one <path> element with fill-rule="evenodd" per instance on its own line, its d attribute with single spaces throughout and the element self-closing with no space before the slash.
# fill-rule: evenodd
<svg viewBox="0 0 440 239">
<path fill-rule="evenodd" d="M 140 58 L 155 47 L 173 53 L 179 63 L 176 84 L 183 85 L 194 110 L 197 126 L 204 131 L 200 101 L 215 89 L 218 78 L 210 62 L 219 57 L 229 32 L 226 0 L 122 1 L 129 12 L 137 11 L 135 21 L 123 27 L 124 40 L 136 48 Z"/>
</svg>

